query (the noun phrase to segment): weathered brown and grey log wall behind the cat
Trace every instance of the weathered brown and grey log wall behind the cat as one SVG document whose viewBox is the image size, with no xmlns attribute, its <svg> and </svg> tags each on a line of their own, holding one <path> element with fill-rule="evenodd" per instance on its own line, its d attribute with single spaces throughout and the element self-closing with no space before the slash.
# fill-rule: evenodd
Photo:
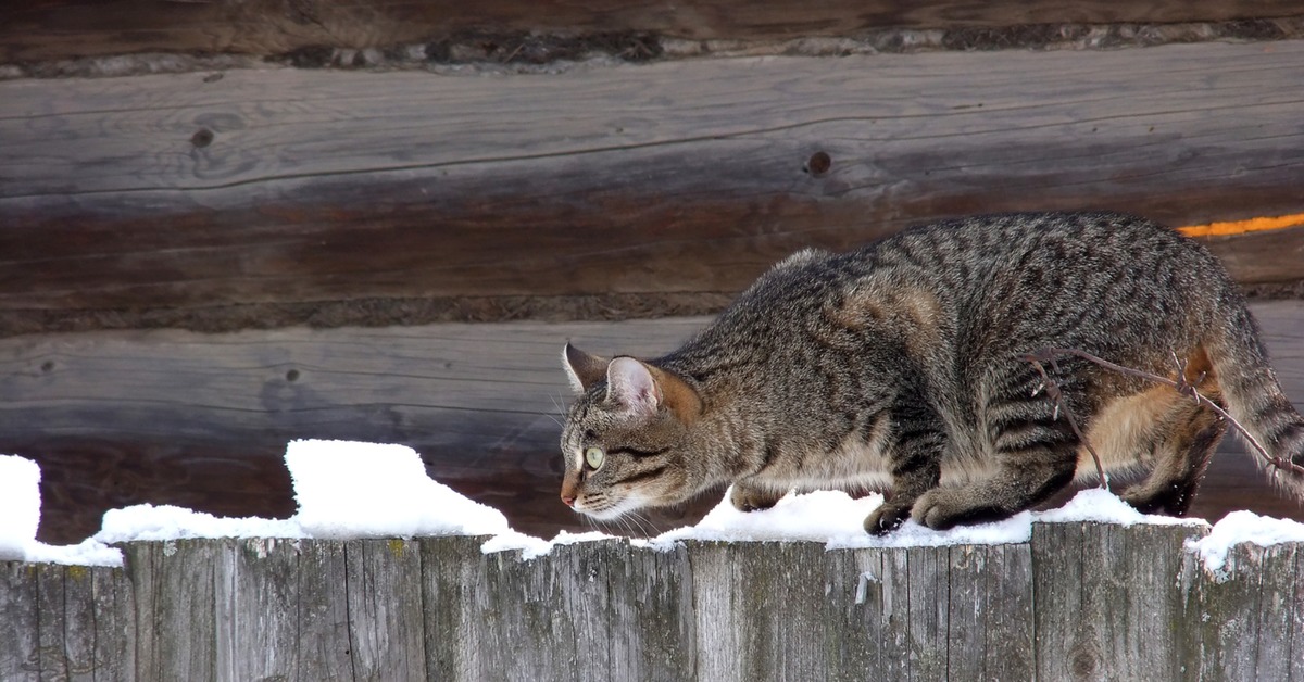
<svg viewBox="0 0 1304 682">
<path fill-rule="evenodd" d="M 47 541 L 136 502 L 288 515 L 295 437 L 412 445 L 552 535 L 567 338 L 661 352 L 702 318 L 643 318 L 932 218 L 1300 215 L 1299 12 L 3 4 L 0 451 L 40 463 Z M 1294 226 L 1206 243 L 1299 293 Z M 1301 318 L 1269 322 L 1296 399 Z M 1297 515 L 1249 462 L 1196 511 Z"/>
</svg>

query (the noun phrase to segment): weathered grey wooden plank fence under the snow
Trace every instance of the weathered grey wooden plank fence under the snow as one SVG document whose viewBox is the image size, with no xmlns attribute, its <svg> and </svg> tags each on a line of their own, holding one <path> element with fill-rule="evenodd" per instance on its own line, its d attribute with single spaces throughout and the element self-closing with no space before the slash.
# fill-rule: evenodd
<svg viewBox="0 0 1304 682">
<path fill-rule="evenodd" d="M 1035 523 L 1031 541 L 825 550 L 476 537 L 177 540 L 8 563 L 0 679 L 1301 679 L 1304 545 Z"/>
</svg>

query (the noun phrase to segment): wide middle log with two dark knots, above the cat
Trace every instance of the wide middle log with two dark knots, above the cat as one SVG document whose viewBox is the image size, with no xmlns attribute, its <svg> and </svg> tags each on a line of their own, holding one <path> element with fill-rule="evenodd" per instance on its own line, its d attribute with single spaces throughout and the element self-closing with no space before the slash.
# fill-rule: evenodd
<svg viewBox="0 0 1304 682">
<path fill-rule="evenodd" d="M 797 248 L 956 214 L 1299 213 L 1297 59 L 1304 42 L 5 81 L 0 333 L 413 323 L 485 300 L 501 318 L 735 292 Z M 829 168 L 806 172 L 816 153 Z M 1304 228 L 1211 243 L 1243 282 L 1304 279 Z"/>
</svg>

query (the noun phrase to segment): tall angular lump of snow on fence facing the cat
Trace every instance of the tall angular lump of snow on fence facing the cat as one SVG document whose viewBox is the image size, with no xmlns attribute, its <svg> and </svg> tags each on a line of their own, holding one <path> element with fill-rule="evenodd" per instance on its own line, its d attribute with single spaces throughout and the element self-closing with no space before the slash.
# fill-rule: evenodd
<svg viewBox="0 0 1304 682">
<path fill-rule="evenodd" d="M 295 520 L 310 537 L 498 535 L 507 518 L 433 481 L 411 447 L 352 441 L 293 441 L 286 466 Z"/>
</svg>

